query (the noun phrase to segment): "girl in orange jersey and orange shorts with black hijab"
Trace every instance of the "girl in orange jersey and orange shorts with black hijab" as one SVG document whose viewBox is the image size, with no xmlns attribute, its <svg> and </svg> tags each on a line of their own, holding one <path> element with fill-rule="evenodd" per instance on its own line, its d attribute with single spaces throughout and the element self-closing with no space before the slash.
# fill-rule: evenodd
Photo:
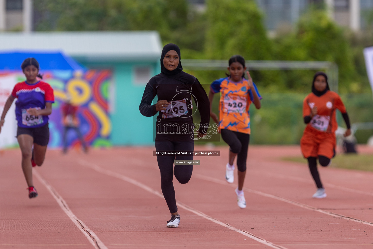
<svg viewBox="0 0 373 249">
<path fill-rule="evenodd" d="M 336 109 L 341 111 L 346 122 L 347 130 L 344 136 L 351 135 L 350 120 L 341 97 L 330 91 L 326 74 L 317 72 L 313 77 L 312 92 L 303 101 L 303 118 L 307 126 L 301 138 L 301 150 L 308 160 L 308 167 L 317 186 L 313 198 L 326 197 L 316 159 L 319 158 L 321 166 L 326 167 L 335 156 L 335 130 L 338 128 Z"/>
</svg>

